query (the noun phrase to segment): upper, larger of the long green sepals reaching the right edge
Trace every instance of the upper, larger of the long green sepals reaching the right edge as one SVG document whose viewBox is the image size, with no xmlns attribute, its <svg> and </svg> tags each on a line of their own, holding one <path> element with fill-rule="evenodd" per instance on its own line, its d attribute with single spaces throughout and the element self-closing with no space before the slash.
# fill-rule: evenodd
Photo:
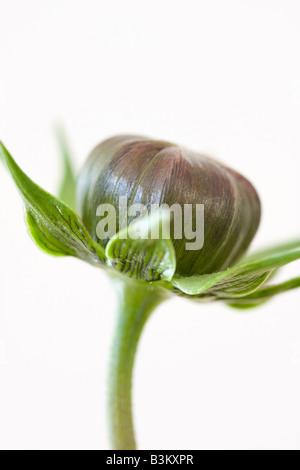
<svg viewBox="0 0 300 470">
<path fill-rule="evenodd" d="M 172 283 L 188 295 L 244 298 L 259 289 L 276 269 L 297 259 L 300 259 L 299 240 L 251 255 L 225 271 L 174 278 Z"/>
</svg>

